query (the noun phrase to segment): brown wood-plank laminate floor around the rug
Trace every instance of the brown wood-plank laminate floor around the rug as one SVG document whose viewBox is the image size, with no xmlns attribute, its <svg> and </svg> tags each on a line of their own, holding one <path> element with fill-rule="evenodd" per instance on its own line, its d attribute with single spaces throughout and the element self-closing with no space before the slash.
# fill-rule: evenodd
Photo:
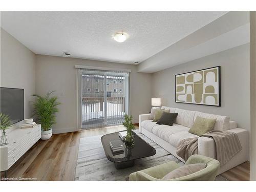
<svg viewBox="0 0 256 192">
<path fill-rule="evenodd" d="M 122 126 L 102 127 L 55 134 L 49 140 L 39 140 L 38 146 L 32 146 L 8 170 L 8 177 L 37 178 L 38 181 L 73 181 L 80 138 L 122 130 Z M 249 181 L 250 163 L 245 162 L 221 175 L 230 181 Z M 3 172 L 1 176 L 4 176 Z"/>
</svg>

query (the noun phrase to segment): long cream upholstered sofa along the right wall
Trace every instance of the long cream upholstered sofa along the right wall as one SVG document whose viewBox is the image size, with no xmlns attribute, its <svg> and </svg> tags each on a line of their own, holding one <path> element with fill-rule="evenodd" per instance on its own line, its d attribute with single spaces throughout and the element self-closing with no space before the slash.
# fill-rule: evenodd
<svg viewBox="0 0 256 192">
<path fill-rule="evenodd" d="M 197 135 L 188 133 L 188 130 L 193 125 L 197 116 L 203 118 L 217 118 L 214 130 L 237 133 L 243 147 L 236 156 L 220 168 L 219 174 L 248 160 L 248 131 L 237 128 L 237 123 L 230 121 L 229 117 L 169 108 L 167 106 L 162 106 L 161 109 L 169 109 L 170 113 L 178 113 L 173 126 L 158 125 L 156 122 L 152 122 L 153 120 L 149 119 L 150 114 L 143 114 L 139 116 L 139 131 L 181 161 L 185 162 L 184 159 L 176 154 L 176 147 L 182 139 L 198 137 Z M 198 154 L 216 159 L 214 140 L 207 137 L 199 137 Z"/>
</svg>

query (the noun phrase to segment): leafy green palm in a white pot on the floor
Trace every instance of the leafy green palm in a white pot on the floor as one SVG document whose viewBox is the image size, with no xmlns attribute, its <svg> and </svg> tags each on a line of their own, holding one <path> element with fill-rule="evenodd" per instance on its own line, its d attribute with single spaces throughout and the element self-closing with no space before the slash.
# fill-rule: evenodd
<svg viewBox="0 0 256 192">
<path fill-rule="evenodd" d="M 34 94 L 36 101 L 33 103 L 33 115 L 36 117 L 36 122 L 41 124 L 41 140 L 50 139 L 52 136 L 51 126 L 56 123 L 55 113 L 59 110 L 57 105 L 61 104 L 57 101 L 57 97 L 50 97 L 52 92 L 48 92 L 46 96 Z"/>
</svg>

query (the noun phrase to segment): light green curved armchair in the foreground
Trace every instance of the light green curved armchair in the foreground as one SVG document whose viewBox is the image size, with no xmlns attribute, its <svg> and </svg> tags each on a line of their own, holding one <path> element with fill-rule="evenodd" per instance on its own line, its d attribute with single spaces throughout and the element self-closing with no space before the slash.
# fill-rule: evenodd
<svg viewBox="0 0 256 192">
<path fill-rule="evenodd" d="M 199 172 L 190 174 L 184 177 L 162 180 L 162 178 L 172 172 L 174 169 L 178 168 L 179 165 L 170 161 L 161 165 L 157 165 L 151 168 L 140 170 L 138 172 L 132 173 L 129 177 L 130 181 L 214 181 L 218 170 L 220 168 L 219 161 L 205 157 L 202 155 L 192 155 L 188 158 L 185 165 L 195 164 L 195 163 L 205 163 L 206 167 Z"/>
</svg>

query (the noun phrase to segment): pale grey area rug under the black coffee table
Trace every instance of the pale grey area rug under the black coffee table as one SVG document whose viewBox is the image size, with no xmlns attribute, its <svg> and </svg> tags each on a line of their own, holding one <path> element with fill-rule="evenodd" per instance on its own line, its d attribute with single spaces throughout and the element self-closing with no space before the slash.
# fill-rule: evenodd
<svg viewBox="0 0 256 192">
<path fill-rule="evenodd" d="M 109 161 L 105 156 L 100 141 L 101 135 L 84 137 L 80 139 L 79 143 L 75 181 L 127 181 L 129 180 L 129 175 L 133 172 L 169 161 L 175 161 L 180 165 L 184 165 L 182 161 L 165 151 L 154 141 L 139 133 L 138 130 L 135 132 L 156 149 L 156 155 L 135 160 L 133 167 L 116 169 L 114 163 Z M 218 176 L 216 180 L 223 181 L 226 179 Z"/>
</svg>

